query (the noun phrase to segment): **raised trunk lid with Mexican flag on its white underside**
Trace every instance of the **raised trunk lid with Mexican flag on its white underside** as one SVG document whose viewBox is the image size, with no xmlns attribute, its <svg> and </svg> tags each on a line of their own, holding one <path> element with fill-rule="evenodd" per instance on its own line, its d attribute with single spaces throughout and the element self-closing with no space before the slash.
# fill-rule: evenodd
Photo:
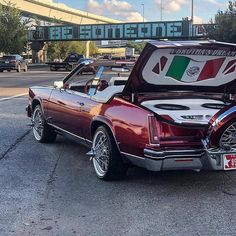
<svg viewBox="0 0 236 236">
<path fill-rule="evenodd" d="M 215 41 L 150 42 L 123 95 L 159 91 L 236 91 L 236 45 Z"/>
</svg>

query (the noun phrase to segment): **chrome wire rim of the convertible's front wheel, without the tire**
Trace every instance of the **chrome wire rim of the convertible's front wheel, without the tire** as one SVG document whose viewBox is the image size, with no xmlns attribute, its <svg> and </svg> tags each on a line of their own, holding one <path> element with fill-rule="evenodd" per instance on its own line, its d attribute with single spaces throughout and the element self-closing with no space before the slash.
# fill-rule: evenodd
<svg viewBox="0 0 236 236">
<path fill-rule="evenodd" d="M 33 123 L 34 137 L 37 141 L 41 141 L 44 129 L 44 119 L 42 111 L 39 106 L 37 106 L 34 110 L 32 116 L 32 123 Z"/>
</svg>

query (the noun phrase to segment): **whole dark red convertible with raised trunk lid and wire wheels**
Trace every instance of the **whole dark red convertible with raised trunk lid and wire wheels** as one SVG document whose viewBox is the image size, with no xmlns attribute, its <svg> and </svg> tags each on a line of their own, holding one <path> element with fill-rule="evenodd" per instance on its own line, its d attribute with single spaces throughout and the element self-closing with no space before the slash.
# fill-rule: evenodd
<svg viewBox="0 0 236 236">
<path fill-rule="evenodd" d="M 96 175 L 236 169 L 236 45 L 147 43 L 128 77 L 85 81 L 84 61 L 63 81 L 29 89 L 35 139 L 65 135 L 89 147 Z"/>
</svg>

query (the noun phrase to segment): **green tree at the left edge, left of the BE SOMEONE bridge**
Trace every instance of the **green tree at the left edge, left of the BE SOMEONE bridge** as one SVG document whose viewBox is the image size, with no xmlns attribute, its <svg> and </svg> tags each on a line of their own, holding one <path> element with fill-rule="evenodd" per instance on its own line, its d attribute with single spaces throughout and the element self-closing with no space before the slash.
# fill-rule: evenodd
<svg viewBox="0 0 236 236">
<path fill-rule="evenodd" d="M 27 46 L 28 19 L 14 4 L 0 4 L 0 52 L 22 53 Z"/>
</svg>

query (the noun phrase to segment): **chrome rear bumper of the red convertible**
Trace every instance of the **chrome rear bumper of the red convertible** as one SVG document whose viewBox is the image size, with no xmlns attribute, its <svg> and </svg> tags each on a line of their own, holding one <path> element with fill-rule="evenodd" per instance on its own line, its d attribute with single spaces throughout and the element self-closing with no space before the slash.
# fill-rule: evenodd
<svg viewBox="0 0 236 236">
<path fill-rule="evenodd" d="M 222 158 L 224 154 L 236 154 L 236 150 L 197 149 L 154 151 L 144 149 L 144 157 L 137 157 L 127 153 L 125 153 L 125 156 L 134 165 L 151 171 L 224 170 Z"/>
</svg>

